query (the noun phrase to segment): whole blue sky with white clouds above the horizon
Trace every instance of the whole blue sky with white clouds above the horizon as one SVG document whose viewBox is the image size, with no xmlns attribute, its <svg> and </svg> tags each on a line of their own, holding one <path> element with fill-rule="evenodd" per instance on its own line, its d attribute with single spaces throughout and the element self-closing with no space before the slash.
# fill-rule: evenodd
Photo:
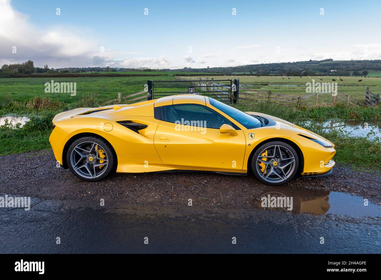
<svg viewBox="0 0 381 280">
<path fill-rule="evenodd" d="M 0 64 L 200 68 L 381 59 L 380 13 L 380 1 L 0 0 Z"/>
</svg>

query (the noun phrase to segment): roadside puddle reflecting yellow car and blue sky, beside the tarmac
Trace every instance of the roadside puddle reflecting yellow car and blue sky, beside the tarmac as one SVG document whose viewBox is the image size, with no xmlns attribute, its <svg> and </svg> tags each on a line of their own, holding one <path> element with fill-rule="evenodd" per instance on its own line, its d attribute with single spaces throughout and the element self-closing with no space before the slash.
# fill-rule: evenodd
<svg viewBox="0 0 381 280">
<path fill-rule="evenodd" d="M 270 195 L 270 196 L 269 196 Z M 262 197 L 270 198 L 283 198 L 283 201 L 288 199 L 289 204 L 282 205 L 266 204 L 267 200 L 262 200 Z M 292 203 L 291 203 L 292 198 Z M 270 206 L 265 209 L 290 211 L 292 213 L 311 213 L 313 215 L 326 215 L 326 214 L 340 214 L 340 215 L 359 215 L 380 217 L 381 206 L 373 204 L 368 201 L 368 206 L 365 206 L 364 198 L 359 196 L 352 196 L 350 194 L 341 193 L 338 191 L 305 191 L 304 193 L 291 193 L 283 189 L 267 188 L 264 194 L 259 196 L 257 205 L 263 208 L 263 203 Z"/>
</svg>

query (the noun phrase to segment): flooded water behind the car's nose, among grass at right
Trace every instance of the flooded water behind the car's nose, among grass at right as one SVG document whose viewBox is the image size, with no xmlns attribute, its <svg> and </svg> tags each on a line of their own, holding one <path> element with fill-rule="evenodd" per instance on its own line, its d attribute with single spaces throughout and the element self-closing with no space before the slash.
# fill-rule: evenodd
<svg viewBox="0 0 381 280">
<path fill-rule="evenodd" d="M 369 120 L 369 121 L 327 120 L 323 122 L 303 121 L 300 124 L 302 127 L 307 126 L 310 128 L 314 126 L 319 126 L 319 127 L 322 127 L 322 130 L 324 132 L 329 132 L 329 130 L 340 130 L 348 136 L 367 137 L 369 139 L 375 139 L 377 137 L 381 138 L 381 120 Z"/>
</svg>

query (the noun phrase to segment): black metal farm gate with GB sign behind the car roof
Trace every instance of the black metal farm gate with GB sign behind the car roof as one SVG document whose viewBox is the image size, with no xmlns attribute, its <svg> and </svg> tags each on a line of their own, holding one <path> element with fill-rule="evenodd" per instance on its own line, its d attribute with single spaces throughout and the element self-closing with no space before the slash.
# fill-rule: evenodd
<svg viewBox="0 0 381 280">
<path fill-rule="evenodd" d="M 199 78 L 186 80 L 180 78 L 174 81 L 148 80 L 148 100 L 176 94 L 199 94 L 210 96 L 221 102 L 237 103 L 239 97 L 239 79 L 209 80 Z"/>
</svg>

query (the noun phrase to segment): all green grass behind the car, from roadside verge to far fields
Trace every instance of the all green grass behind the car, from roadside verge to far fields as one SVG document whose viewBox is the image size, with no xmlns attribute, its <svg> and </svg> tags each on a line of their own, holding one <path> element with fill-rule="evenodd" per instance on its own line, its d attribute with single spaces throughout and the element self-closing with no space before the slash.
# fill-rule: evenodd
<svg viewBox="0 0 381 280">
<path fill-rule="evenodd" d="M 144 73 L 147 75 L 167 73 L 170 76 L 142 76 L 142 77 L 57 77 L 57 78 L 2 78 L 0 79 L 0 116 L 6 114 L 17 114 L 27 116 L 31 121 L 23 128 L 14 130 L 9 125 L 0 126 L 0 155 L 9 153 L 22 153 L 35 151 L 43 148 L 50 148 L 48 137 L 51 132 L 51 119 L 61 111 L 77 107 L 97 107 L 103 103 L 117 98 L 117 93 L 121 92 L 122 98 L 132 93 L 144 90 L 147 80 L 175 80 L 172 75 L 175 72 L 133 72 L 135 74 Z M 178 73 L 178 72 L 177 72 Z M 186 78 L 186 76 L 185 76 Z M 198 79 L 198 77 L 191 77 Z M 203 76 L 205 78 L 205 76 Z M 306 95 L 306 82 L 321 82 L 319 77 L 255 77 L 255 76 L 210 76 L 211 79 L 240 79 L 240 93 L 244 89 L 261 90 L 282 93 L 293 96 Z M 282 79 L 284 78 L 284 79 Z M 331 82 L 336 79 L 339 91 L 349 94 L 351 97 L 363 101 L 366 87 L 375 93 L 381 93 L 381 78 L 370 77 L 320 77 L 323 82 Z M 70 96 L 70 93 L 45 93 L 45 83 L 51 82 L 76 82 L 77 94 Z M 291 85 L 291 86 L 284 86 Z M 160 91 L 185 90 L 184 88 L 160 89 Z M 197 89 L 197 91 L 200 91 Z M 140 96 L 145 96 L 142 93 Z M 136 97 L 136 96 L 135 96 Z M 133 97 L 133 98 L 135 98 Z M 33 101 L 33 99 L 35 100 Z M 143 99 L 146 100 L 146 99 Z M 381 119 L 380 107 L 347 107 L 343 103 L 336 106 L 331 105 L 332 96 L 327 94 L 319 95 L 319 106 L 315 107 L 314 98 L 311 102 L 304 102 L 300 109 L 296 109 L 291 103 L 273 101 L 270 103 L 257 103 L 241 100 L 239 104 L 232 105 L 242 111 L 257 111 L 271 114 L 287 121 L 298 123 L 305 119 L 322 120 L 328 118 L 341 119 Z M 130 99 L 123 99 L 122 103 L 134 103 Z M 309 127 L 307 127 L 309 128 Z M 378 140 L 367 140 L 366 138 L 348 137 L 339 132 L 326 133 L 315 127 L 311 127 L 314 132 L 327 137 L 337 145 L 338 153 L 335 159 L 339 163 L 355 164 L 357 166 L 379 166 L 381 164 L 381 144 Z M 362 154 L 372 154 L 366 160 Z"/>
</svg>

